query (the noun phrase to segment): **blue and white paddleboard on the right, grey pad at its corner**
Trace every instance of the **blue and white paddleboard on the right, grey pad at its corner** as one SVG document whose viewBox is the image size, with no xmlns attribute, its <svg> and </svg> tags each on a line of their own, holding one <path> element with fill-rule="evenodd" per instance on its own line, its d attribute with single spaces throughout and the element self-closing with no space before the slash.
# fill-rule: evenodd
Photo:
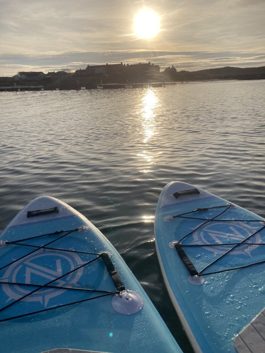
<svg viewBox="0 0 265 353">
<path fill-rule="evenodd" d="M 264 352 L 264 244 L 264 218 L 187 183 L 164 187 L 155 245 L 195 352 Z"/>
</svg>

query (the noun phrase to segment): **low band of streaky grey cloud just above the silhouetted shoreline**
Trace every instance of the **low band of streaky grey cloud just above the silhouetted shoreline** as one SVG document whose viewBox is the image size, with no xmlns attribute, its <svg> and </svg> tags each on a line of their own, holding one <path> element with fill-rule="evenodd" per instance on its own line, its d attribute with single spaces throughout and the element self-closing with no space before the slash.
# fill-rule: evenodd
<svg viewBox="0 0 265 353">
<path fill-rule="evenodd" d="M 87 65 L 116 64 L 118 62 L 137 64 L 151 61 L 160 69 L 174 65 L 180 70 L 197 71 L 206 68 L 236 66 L 265 66 L 264 53 L 244 52 L 163 52 L 149 50 L 107 50 L 99 52 L 63 52 L 48 55 L 0 55 L 2 76 L 12 76 L 18 71 L 60 71 L 69 67 L 73 71 L 85 69 Z M 37 64 L 36 64 L 37 63 Z"/>
</svg>

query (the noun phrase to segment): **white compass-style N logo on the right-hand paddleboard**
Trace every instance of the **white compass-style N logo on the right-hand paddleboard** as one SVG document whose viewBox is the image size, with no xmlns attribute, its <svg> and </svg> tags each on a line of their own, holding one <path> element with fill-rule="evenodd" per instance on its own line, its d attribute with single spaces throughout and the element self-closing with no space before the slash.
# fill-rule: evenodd
<svg viewBox="0 0 265 353">
<path fill-rule="evenodd" d="M 223 229 L 223 231 L 220 231 Z M 243 222 L 212 222 L 199 228 L 193 232 L 193 242 L 191 244 L 228 244 L 240 243 L 242 240 L 248 238 L 251 234 L 255 233 L 260 227 L 253 227 Z M 260 235 L 256 233 L 253 237 L 247 240 L 247 243 L 259 243 Z M 258 245 L 238 245 L 235 250 L 231 251 L 228 255 L 245 254 L 251 257 L 251 252 Z M 204 249 L 214 253 L 223 254 L 232 245 L 223 246 L 207 246 Z"/>
</svg>

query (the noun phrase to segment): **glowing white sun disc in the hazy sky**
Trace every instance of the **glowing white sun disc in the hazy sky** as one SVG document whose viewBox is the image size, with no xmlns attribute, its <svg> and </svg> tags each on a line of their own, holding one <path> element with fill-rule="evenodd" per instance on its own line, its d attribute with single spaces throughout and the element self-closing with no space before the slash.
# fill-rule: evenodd
<svg viewBox="0 0 265 353">
<path fill-rule="evenodd" d="M 152 38 L 159 32 L 159 17 L 151 10 L 143 9 L 134 18 L 134 32 L 142 39 Z"/>
</svg>

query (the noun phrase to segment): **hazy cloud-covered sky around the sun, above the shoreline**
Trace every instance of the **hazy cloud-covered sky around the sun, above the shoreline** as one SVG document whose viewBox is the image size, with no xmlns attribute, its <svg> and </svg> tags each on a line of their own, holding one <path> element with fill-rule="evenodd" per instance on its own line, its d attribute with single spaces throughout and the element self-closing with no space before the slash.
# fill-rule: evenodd
<svg viewBox="0 0 265 353">
<path fill-rule="evenodd" d="M 265 0 L 0 0 L 0 76 L 154 62 L 180 70 L 265 66 Z M 135 34 L 154 11 L 160 31 Z"/>
</svg>

